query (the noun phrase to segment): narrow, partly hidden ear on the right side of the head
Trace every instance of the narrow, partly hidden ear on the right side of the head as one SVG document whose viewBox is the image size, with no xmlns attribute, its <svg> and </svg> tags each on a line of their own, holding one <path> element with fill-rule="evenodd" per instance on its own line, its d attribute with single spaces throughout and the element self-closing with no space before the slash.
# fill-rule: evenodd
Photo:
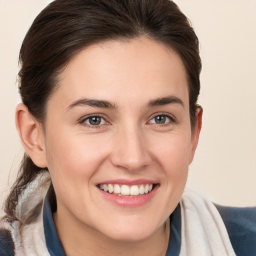
<svg viewBox="0 0 256 256">
<path fill-rule="evenodd" d="M 195 112 L 195 124 L 191 131 L 191 147 L 190 147 L 190 156 L 189 156 L 189 164 L 192 162 L 194 157 L 194 152 L 197 147 L 200 130 L 202 127 L 202 107 L 198 106 Z"/>
</svg>

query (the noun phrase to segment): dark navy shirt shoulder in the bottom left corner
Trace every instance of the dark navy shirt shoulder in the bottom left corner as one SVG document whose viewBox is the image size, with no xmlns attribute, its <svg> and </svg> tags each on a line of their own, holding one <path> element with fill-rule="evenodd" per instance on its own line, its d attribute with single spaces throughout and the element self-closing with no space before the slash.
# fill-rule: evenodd
<svg viewBox="0 0 256 256">
<path fill-rule="evenodd" d="M 10 231 L 0 228 L 0 256 L 13 256 L 14 243 L 11 238 Z"/>
</svg>

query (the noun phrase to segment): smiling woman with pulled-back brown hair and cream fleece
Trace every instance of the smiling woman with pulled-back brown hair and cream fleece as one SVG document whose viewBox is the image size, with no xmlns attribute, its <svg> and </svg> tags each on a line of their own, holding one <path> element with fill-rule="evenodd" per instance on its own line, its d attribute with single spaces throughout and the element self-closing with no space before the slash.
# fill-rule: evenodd
<svg viewBox="0 0 256 256">
<path fill-rule="evenodd" d="M 19 58 L 26 153 L 6 200 L 3 255 L 256 251 L 252 209 L 183 192 L 201 128 L 201 62 L 172 1 L 55 0 Z"/>
</svg>

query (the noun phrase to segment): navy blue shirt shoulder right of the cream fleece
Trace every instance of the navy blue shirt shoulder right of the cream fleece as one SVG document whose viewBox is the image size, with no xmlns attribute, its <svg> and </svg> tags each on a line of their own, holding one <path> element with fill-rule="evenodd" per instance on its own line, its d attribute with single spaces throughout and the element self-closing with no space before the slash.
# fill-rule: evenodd
<svg viewBox="0 0 256 256">
<path fill-rule="evenodd" d="M 215 205 L 237 256 L 256 255 L 256 207 Z"/>
</svg>

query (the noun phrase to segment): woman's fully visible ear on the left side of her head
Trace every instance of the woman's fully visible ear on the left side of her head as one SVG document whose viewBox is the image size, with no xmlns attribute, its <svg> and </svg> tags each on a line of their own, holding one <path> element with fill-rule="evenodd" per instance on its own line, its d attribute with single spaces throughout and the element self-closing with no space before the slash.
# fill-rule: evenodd
<svg viewBox="0 0 256 256">
<path fill-rule="evenodd" d="M 15 112 L 16 128 L 25 151 L 38 167 L 47 167 L 42 125 L 28 112 L 24 104 L 18 104 Z"/>
</svg>

